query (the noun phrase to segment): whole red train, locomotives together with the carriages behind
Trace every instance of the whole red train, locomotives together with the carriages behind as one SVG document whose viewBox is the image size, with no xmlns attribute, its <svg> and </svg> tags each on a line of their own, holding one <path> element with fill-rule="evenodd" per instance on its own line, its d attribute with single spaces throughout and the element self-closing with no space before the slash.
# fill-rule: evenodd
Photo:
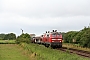
<svg viewBox="0 0 90 60">
<path fill-rule="evenodd" d="M 42 44 L 45 47 L 52 47 L 52 48 L 61 48 L 62 47 L 63 37 L 61 32 L 57 32 L 57 30 L 46 31 L 41 36 L 32 37 L 31 42 Z"/>
</svg>

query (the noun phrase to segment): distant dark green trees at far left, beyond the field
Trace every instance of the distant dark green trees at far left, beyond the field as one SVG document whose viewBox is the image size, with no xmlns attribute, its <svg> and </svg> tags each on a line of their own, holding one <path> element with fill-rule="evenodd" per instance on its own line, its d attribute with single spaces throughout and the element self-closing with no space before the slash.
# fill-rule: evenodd
<svg viewBox="0 0 90 60">
<path fill-rule="evenodd" d="M 8 33 L 8 34 L 0 34 L 0 40 L 15 40 L 16 34 Z"/>
</svg>

